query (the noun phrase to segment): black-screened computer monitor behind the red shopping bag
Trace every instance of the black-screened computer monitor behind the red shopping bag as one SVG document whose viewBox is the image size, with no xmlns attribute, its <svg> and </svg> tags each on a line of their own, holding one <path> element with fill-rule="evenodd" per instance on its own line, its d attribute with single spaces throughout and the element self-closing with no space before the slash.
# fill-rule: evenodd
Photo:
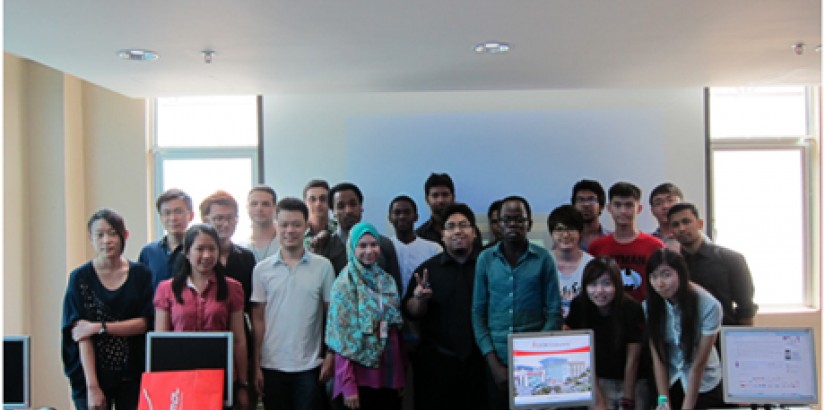
<svg viewBox="0 0 825 410">
<path fill-rule="evenodd" d="M 146 371 L 224 370 L 224 404 L 233 401 L 232 332 L 149 332 Z"/>
</svg>

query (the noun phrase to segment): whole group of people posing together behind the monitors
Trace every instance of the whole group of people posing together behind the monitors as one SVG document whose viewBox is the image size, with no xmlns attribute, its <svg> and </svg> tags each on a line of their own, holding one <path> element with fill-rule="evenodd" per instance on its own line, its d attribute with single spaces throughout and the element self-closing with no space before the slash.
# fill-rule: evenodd
<svg viewBox="0 0 825 410">
<path fill-rule="evenodd" d="M 752 324 L 753 283 L 676 186 L 651 192 L 659 228 L 647 234 L 638 187 L 606 195 L 577 182 L 547 218 L 549 250 L 528 240 L 523 197 L 491 204 L 482 245 L 449 175 L 430 175 L 424 193 L 430 219 L 415 229 L 417 205 L 399 195 L 387 237 L 362 221 L 355 184 L 312 180 L 303 199 L 281 200 L 256 186 L 251 237 L 235 244 L 232 196 L 208 196 L 190 226 L 191 198 L 170 189 L 156 202 L 166 235 L 138 262 L 122 255 L 123 218 L 96 212 L 97 256 L 71 273 L 64 300 L 75 406 L 136 408 L 153 329 L 232 332 L 239 409 L 259 398 L 267 410 L 507 409 L 508 334 L 563 328 L 595 334 L 597 408 L 651 408 L 656 396 L 672 408 L 722 405 L 716 336 Z"/>
</svg>

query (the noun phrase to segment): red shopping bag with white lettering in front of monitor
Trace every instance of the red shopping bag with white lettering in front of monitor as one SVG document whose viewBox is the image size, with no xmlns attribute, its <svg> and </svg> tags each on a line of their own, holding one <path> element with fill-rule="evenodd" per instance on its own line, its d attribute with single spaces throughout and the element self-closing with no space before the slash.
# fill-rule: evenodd
<svg viewBox="0 0 825 410">
<path fill-rule="evenodd" d="M 221 410 L 223 369 L 145 372 L 138 410 Z"/>
</svg>

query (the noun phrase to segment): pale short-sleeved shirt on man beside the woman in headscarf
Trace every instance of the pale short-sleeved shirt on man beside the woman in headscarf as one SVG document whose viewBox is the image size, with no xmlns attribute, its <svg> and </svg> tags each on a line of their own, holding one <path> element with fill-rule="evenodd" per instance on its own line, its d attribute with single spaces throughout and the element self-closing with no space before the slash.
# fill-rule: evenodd
<svg viewBox="0 0 825 410">
<path fill-rule="evenodd" d="M 260 366 L 301 372 L 321 365 L 324 304 L 335 273 L 324 257 L 311 252 L 289 267 L 281 252 L 261 261 L 252 272 L 252 302 L 266 303 Z"/>
</svg>

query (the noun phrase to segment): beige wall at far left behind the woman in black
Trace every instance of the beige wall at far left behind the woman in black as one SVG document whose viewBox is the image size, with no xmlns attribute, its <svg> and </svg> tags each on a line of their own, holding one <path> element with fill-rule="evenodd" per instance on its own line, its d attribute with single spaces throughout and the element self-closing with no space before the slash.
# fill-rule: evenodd
<svg viewBox="0 0 825 410">
<path fill-rule="evenodd" d="M 147 241 L 145 104 L 8 54 L 4 69 L 3 332 L 32 337 L 33 407 L 67 409 L 59 329 L 86 219 L 120 211 L 130 258 Z"/>
</svg>

